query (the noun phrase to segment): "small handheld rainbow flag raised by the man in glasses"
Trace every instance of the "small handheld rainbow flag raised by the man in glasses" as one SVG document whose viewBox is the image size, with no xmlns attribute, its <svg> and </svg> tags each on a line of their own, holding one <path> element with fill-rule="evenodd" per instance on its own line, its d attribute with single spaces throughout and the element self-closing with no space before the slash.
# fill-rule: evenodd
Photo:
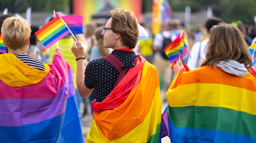
<svg viewBox="0 0 256 143">
<path fill-rule="evenodd" d="M 35 32 L 35 35 L 43 43 L 45 48 L 48 49 L 69 33 L 70 31 L 67 25 L 59 16 L 56 16 L 53 20 Z"/>
</svg>

